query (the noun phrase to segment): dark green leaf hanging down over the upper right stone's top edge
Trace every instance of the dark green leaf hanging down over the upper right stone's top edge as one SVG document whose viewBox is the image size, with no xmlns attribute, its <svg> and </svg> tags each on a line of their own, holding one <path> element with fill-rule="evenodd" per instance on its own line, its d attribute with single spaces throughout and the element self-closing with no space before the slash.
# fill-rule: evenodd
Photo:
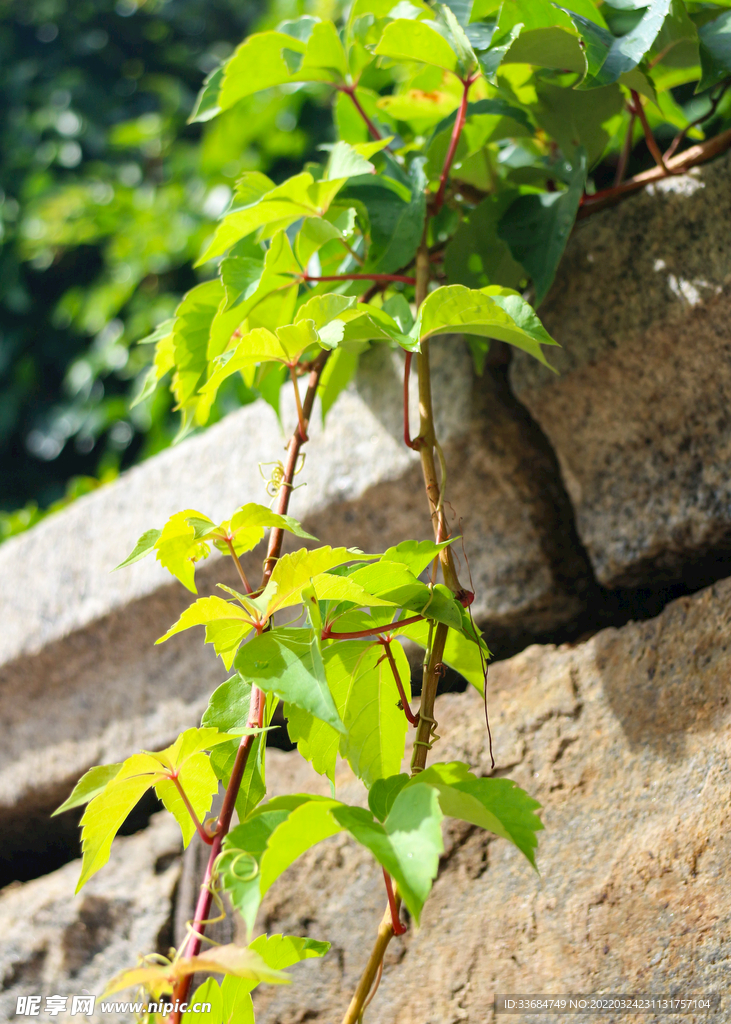
<svg viewBox="0 0 731 1024">
<path fill-rule="evenodd" d="M 521 196 L 509 207 L 498 226 L 498 233 L 507 242 L 514 258 L 532 278 L 536 305 L 546 297 L 556 276 L 576 219 L 586 179 L 587 157 L 579 147 L 568 188 Z"/>
</svg>

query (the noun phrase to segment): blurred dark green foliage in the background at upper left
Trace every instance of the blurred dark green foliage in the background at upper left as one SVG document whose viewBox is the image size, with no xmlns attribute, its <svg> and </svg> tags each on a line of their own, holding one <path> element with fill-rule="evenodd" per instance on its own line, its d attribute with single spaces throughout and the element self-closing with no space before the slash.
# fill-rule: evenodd
<svg viewBox="0 0 731 1024">
<path fill-rule="evenodd" d="M 136 342 L 196 284 L 241 172 L 284 179 L 330 124 L 316 87 L 186 120 L 247 32 L 298 9 L 0 0 L 0 540 L 170 443 L 164 389 L 129 410 Z M 214 417 L 248 397 L 231 382 Z"/>
</svg>

